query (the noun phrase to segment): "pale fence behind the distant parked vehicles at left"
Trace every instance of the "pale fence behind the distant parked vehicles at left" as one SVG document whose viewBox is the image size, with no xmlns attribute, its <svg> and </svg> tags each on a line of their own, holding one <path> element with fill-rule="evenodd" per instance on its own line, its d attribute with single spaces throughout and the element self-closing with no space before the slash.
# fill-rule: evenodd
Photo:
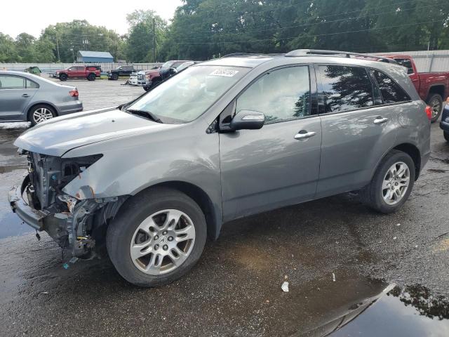
<svg viewBox="0 0 449 337">
<path fill-rule="evenodd" d="M 22 72 L 27 67 L 37 66 L 41 72 L 54 72 L 55 70 L 66 69 L 72 65 L 83 65 L 83 63 L 0 63 L 0 70 L 17 70 Z M 162 63 L 92 63 L 92 65 L 100 65 L 103 72 L 115 69 L 121 65 L 133 65 L 135 70 L 150 70 L 159 67 Z"/>
</svg>

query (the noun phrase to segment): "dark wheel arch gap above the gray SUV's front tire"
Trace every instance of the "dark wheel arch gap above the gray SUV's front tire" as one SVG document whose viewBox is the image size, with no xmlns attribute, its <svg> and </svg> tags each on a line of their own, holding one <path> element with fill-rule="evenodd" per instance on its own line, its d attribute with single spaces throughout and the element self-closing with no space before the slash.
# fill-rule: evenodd
<svg viewBox="0 0 449 337">
<path fill-rule="evenodd" d="M 139 193 L 152 190 L 156 187 L 168 187 L 173 190 L 178 190 L 192 198 L 204 213 L 208 228 L 208 237 L 213 240 L 218 238 L 222 227 L 221 210 L 214 206 L 212 199 L 210 199 L 208 194 L 204 192 L 201 187 L 181 180 L 171 180 L 151 185 Z"/>
</svg>

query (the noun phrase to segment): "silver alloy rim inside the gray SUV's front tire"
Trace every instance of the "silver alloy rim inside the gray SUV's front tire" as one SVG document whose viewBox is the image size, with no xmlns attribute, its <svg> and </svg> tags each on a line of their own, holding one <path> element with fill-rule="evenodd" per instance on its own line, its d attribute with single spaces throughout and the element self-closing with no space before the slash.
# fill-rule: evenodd
<svg viewBox="0 0 449 337">
<path fill-rule="evenodd" d="M 140 223 L 130 242 L 135 267 L 148 275 L 162 275 L 180 267 L 192 252 L 195 227 L 186 213 L 166 209 Z"/>
</svg>

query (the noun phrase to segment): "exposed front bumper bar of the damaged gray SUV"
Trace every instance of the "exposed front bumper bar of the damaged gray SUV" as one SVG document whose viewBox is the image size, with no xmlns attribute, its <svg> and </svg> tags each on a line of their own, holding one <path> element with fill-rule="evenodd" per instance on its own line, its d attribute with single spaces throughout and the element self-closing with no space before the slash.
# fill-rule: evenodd
<svg viewBox="0 0 449 337">
<path fill-rule="evenodd" d="M 28 206 L 22 199 L 22 192 L 25 191 L 25 183 L 27 179 L 23 180 L 22 186 L 14 186 L 8 192 L 8 201 L 11 204 L 11 209 L 16 213 L 23 222 L 33 227 L 35 230 L 43 230 L 43 219 L 48 214 L 38 211 Z"/>
</svg>

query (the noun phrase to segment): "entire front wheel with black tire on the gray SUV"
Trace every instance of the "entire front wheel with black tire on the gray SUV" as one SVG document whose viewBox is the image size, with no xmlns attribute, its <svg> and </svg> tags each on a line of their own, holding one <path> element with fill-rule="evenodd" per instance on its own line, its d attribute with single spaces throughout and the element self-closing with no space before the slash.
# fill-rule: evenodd
<svg viewBox="0 0 449 337">
<path fill-rule="evenodd" d="M 171 227 L 175 222 L 167 221 L 167 215 L 179 213 L 183 215 L 175 224 L 176 227 Z M 152 219 L 152 222 L 149 219 Z M 159 225 L 163 223 L 162 227 L 159 227 L 158 221 L 160 221 Z M 169 225 L 170 223 L 172 225 Z M 183 224 L 193 226 L 194 230 L 188 227 L 189 234 L 185 237 L 192 238 L 193 235 L 193 241 L 185 239 L 185 241 L 177 242 L 177 239 L 182 239 L 180 235 L 183 234 L 175 234 L 175 229 Z M 164 232 L 165 225 L 168 227 Z M 142 226 L 145 232 L 140 229 Z M 187 232 L 187 227 L 178 231 L 182 229 Z M 106 246 L 109 258 L 124 279 L 137 286 L 153 287 L 169 284 L 185 275 L 199 260 L 206 244 L 206 236 L 206 219 L 198 204 L 177 190 L 159 187 L 130 197 L 121 206 L 119 213 L 107 229 Z M 144 244 L 141 247 L 144 248 L 133 249 L 133 246 L 142 245 L 142 242 Z M 182 248 L 184 242 L 185 246 Z M 178 248 L 178 251 L 185 252 L 185 255 L 177 255 L 177 258 L 180 258 L 179 265 L 175 265 L 174 261 L 177 259 L 170 256 L 160 258 L 163 254 L 173 256 L 173 250 L 177 252 L 173 245 Z M 146 255 L 132 257 L 132 251 L 141 254 L 142 250 L 147 251 L 144 253 Z M 164 265 L 164 263 L 168 264 Z M 156 264 L 161 266 L 156 267 Z M 144 271 L 145 268 L 147 272 Z"/>
</svg>

